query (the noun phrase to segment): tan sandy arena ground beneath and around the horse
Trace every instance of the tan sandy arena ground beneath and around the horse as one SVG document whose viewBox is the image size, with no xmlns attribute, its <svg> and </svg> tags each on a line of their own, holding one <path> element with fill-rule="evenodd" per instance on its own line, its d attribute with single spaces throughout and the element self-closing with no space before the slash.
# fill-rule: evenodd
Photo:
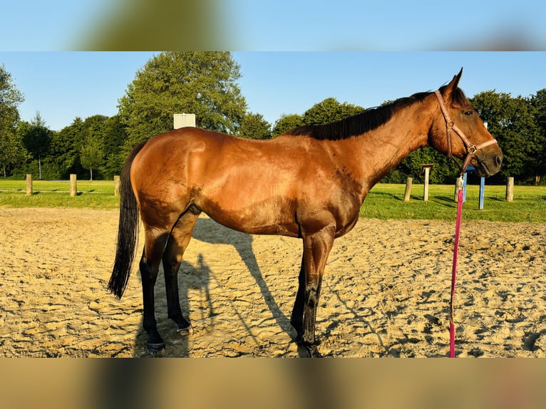
<svg viewBox="0 0 546 409">
<path fill-rule="evenodd" d="M 136 266 L 121 301 L 106 291 L 117 227 L 117 210 L 0 208 L 0 356 L 148 355 Z M 448 356 L 454 228 L 361 219 L 337 239 L 317 314 L 321 353 Z M 545 233 L 546 224 L 463 219 L 457 356 L 546 356 Z M 298 239 L 201 217 L 179 274 L 195 333 L 177 335 L 167 318 L 160 271 L 160 356 L 299 356 L 289 315 L 300 259 Z"/>
</svg>

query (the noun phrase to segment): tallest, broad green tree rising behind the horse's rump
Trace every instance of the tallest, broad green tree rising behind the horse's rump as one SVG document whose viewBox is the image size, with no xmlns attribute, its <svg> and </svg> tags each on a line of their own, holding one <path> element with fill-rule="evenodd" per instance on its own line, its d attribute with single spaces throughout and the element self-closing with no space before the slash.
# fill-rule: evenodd
<svg viewBox="0 0 546 409">
<path fill-rule="evenodd" d="M 132 146 L 172 130 L 172 115 L 195 113 L 200 128 L 235 134 L 246 111 L 228 52 L 164 52 L 136 73 L 118 101 Z"/>
</svg>

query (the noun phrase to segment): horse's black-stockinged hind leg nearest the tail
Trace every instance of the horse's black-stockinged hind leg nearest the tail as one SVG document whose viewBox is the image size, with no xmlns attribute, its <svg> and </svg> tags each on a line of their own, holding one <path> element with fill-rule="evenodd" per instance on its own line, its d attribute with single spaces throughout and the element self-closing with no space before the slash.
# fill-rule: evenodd
<svg viewBox="0 0 546 409">
<path fill-rule="evenodd" d="M 165 347 L 165 342 L 158 332 L 155 321 L 154 286 L 158 278 L 159 264 L 168 232 L 157 234 L 152 229 L 145 231 L 143 256 L 140 259 L 140 277 L 143 291 L 143 327 L 148 333 L 146 346 L 148 351 L 156 353 Z"/>
</svg>

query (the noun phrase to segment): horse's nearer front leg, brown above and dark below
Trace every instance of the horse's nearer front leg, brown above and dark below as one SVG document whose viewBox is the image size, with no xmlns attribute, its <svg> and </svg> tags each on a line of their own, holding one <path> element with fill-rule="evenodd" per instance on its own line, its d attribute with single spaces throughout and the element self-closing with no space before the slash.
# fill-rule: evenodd
<svg viewBox="0 0 546 409">
<path fill-rule="evenodd" d="M 324 266 L 334 244 L 335 225 L 330 224 L 314 234 L 304 237 L 304 314 L 302 344 L 307 347 L 311 357 L 319 357 L 316 348 L 315 323 L 316 309 L 319 305 Z"/>
</svg>

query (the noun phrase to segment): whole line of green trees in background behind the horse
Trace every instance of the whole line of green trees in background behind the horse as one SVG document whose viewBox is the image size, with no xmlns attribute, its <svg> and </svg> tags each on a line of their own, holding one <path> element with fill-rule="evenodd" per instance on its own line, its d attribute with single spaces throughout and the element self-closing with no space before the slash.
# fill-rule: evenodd
<svg viewBox="0 0 546 409">
<path fill-rule="evenodd" d="M 364 107 L 326 98 L 303 114 L 282 115 L 274 124 L 247 110 L 237 84 L 239 66 L 227 52 L 165 52 L 145 64 L 118 100 L 112 117 L 75 118 L 59 131 L 39 113 L 19 118 L 24 95 L 0 66 L 0 171 L 2 176 L 41 179 L 112 179 L 119 175 L 131 147 L 172 129 L 174 113 L 195 113 L 200 128 L 242 138 L 268 139 L 300 125 L 318 125 L 356 115 Z M 545 183 L 546 88 L 528 97 L 487 90 L 469 98 L 503 150 L 498 175 L 488 183 Z M 423 163 L 433 163 L 433 183 L 453 183 L 455 163 L 432 148 L 412 152 L 382 182 L 418 180 Z"/>
</svg>

